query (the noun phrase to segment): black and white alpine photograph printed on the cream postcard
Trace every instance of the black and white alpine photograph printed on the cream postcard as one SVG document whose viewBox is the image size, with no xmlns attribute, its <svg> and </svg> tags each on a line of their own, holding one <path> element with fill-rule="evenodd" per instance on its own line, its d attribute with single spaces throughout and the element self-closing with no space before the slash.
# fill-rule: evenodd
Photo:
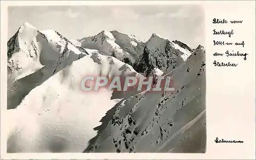
<svg viewBox="0 0 256 160">
<path fill-rule="evenodd" d="M 9 6 L 7 16 L 7 153 L 206 152 L 203 7 Z"/>
</svg>

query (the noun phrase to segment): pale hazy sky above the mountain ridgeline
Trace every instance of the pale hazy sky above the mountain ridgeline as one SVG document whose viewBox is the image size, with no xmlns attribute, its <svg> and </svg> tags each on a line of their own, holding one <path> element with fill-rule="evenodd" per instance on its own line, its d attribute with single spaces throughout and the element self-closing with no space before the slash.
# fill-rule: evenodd
<svg viewBox="0 0 256 160">
<path fill-rule="evenodd" d="M 29 22 L 38 30 L 53 29 L 68 39 L 117 30 L 142 41 L 156 33 L 191 48 L 205 45 L 204 12 L 197 5 L 168 6 L 21 6 L 8 9 L 8 37 Z"/>
</svg>

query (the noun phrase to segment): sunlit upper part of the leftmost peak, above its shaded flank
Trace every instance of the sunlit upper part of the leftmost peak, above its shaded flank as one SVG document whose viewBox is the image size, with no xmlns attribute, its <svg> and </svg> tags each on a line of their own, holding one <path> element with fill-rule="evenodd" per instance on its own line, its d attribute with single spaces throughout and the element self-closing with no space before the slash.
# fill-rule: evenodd
<svg viewBox="0 0 256 160">
<path fill-rule="evenodd" d="M 87 54 L 58 32 L 39 31 L 25 22 L 8 41 L 8 80 L 15 81 L 39 70 L 42 66 L 53 65 L 66 45 L 72 54 Z M 46 61 L 41 61 L 40 57 L 44 57 L 42 59 Z"/>
</svg>

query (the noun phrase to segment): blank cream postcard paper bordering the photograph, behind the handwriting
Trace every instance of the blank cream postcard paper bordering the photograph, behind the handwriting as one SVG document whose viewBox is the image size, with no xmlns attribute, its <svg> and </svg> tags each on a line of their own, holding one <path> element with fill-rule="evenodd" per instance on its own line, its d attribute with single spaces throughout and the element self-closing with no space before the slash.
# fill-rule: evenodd
<svg viewBox="0 0 256 160">
<path fill-rule="evenodd" d="M 207 148 L 202 154 L 183 153 L 6 153 L 7 7 L 23 5 L 185 5 L 199 4 L 205 13 Z M 232 28 L 234 41 L 245 41 L 242 58 L 214 57 L 225 51 L 212 45 L 218 28 L 213 18 L 243 20 Z M 219 38 L 220 39 L 220 38 Z M 223 38 L 222 38 L 223 39 Z M 227 38 L 228 39 L 228 38 Z M 225 38 L 224 38 L 225 40 Z M 234 48 L 235 49 L 235 48 Z M 241 47 L 239 48 L 241 50 Z M 215 67 L 212 62 L 233 61 L 237 67 Z M 215 143 L 215 139 L 241 140 L 243 144 Z M 3 159 L 253 159 L 255 158 L 255 2 L 254 1 L 1 1 L 1 158 Z"/>
</svg>

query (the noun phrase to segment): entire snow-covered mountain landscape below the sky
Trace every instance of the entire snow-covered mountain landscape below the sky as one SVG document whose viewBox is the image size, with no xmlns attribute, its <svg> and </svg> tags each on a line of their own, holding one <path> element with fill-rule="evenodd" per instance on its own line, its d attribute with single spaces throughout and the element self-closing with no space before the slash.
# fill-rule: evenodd
<svg viewBox="0 0 256 160">
<path fill-rule="evenodd" d="M 118 31 L 68 40 L 26 22 L 7 55 L 8 152 L 205 151 L 201 45 Z M 148 75 L 172 77 L 175 91 L 81 89 L 85 76 Z"/>
</svg>

